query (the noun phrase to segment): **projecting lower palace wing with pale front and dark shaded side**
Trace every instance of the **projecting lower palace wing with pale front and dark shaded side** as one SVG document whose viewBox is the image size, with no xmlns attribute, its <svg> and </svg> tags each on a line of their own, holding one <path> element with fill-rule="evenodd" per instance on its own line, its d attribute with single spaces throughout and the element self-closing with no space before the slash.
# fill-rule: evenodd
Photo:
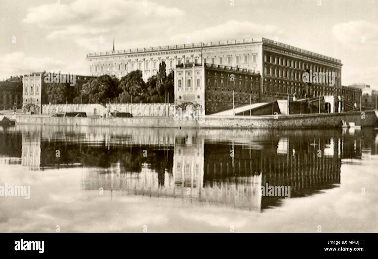
<svg viewBox="0 0 378 259">
<path fill-rule="evenodd" d="M 213 114 L 259 102 L 259 71 L 214 64 L 186 63 L 175 71 L 175 107 Z"/>
</svg>

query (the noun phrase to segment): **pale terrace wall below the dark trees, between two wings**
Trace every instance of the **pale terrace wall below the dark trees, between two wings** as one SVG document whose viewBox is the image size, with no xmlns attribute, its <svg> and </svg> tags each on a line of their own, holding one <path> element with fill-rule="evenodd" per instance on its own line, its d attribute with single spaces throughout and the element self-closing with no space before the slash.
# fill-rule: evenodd
<svg viewBox="0 0 378 259">
<path fill-rule="evenodd" d="M 58 112 L 85 112 L 88 116 L 99 115 L 100 112 L 104 115 L 108 112 L 129 112 L 133 116 L 173 116 L 175 105 L 174 104 L 43 104 L 43 115 L 54 115 Z"/>
</svg>

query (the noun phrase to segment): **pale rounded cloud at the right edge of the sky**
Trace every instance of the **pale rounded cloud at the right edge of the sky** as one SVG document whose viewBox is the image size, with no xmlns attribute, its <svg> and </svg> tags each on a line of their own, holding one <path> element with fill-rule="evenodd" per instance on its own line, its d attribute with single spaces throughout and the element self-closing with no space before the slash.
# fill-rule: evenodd
<svg viewBox="0 0 378 259">
<path fill-rule="evenodd" d="M 378 43 L 378 25 L 367 21 L 352 21 L 333 26 L 332 33 L 339 42 L 348 47 L 375 46 Z M 365 38 L 365 45 L 361 43 Z"/>
</svg>

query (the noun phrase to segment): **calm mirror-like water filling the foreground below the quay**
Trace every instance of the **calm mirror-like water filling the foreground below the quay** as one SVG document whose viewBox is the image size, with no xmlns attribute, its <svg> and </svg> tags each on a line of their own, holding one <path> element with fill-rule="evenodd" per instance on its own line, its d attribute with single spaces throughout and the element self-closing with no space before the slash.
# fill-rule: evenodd
<svg viewBox="0 0 378 259">
<path fill-rule="evenodd" d="M 30 186 L 0 232 L 377 232 L 377 152 L 373 129 L 0 127 L 0 185 Z"/>
</svg>

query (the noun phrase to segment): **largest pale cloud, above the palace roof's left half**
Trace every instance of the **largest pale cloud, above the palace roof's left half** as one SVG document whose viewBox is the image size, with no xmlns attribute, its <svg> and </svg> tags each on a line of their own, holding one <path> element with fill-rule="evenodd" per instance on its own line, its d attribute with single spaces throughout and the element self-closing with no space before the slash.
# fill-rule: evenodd
<svg viewBox="0 0 378 259">
<path fill-rule="evenodd" d="M 24 23 L 45 28 L 47 39 L 72 39 L 89 50 L 99 50 L 99 37 L 127 40 L 130 35 L 150 38 L 156 28 L 169 27 L 173 19 L 184 16 L 176 7 L 166 7 L 147 1 L 76 0 L 70 4 L 41 5 L 28 10 Z M 138 28 L 138 31 L 135 31 Z M 107 46 L 111 46 L 108 44 Z"/>
</svg>

